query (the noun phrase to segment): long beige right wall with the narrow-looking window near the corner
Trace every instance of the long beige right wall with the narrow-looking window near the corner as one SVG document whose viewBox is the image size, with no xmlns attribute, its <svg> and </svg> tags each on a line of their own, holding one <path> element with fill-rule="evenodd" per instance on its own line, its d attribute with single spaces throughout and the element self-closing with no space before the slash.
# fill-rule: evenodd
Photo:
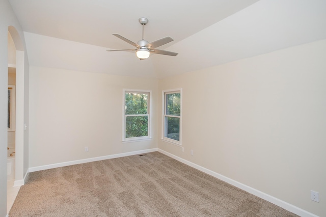
<svg viewBox="0 0 326 217">
<path fill-rule="evenodd" d="M 183 88 L 185 151 L 158 148 L 324 216 L 325 56 L 326 40 L 160 80 Z"/>
</svg>

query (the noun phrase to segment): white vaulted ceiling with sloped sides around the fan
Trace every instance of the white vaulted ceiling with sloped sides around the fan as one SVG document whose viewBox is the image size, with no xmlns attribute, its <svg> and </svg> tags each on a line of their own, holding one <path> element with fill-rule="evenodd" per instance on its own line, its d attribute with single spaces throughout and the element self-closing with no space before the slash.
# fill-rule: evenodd
<svg viewBox="0 0 326 217">
<path fill-rule="evenodd" d="M 25 32 L 31 66 L 164 78 L 326 39 L 324 0 L 9 0 Z M 118 33 L 137 42 L 171 36 L 159 47 L 176 57 L 140 61 Z"/>
</svg>

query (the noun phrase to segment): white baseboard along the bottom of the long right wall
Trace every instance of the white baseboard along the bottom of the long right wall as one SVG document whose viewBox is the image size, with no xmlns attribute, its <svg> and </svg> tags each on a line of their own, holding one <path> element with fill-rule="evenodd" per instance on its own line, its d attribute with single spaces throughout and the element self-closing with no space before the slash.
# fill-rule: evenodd
<svg viewBox="0 0 326 217">
<path fill-rule="evenodd" d="M 294 214 L 300 215 L 302 217 L 318 217 L 318 215 L 310 213 L 310 212 L 308 212 L 308 211 L 306 211 L 304 209 L 296 207 L 296 206 L 294 206 L 294 205 L 292 205 L 290 203 L 287 203 L 285 201 L 282 201 L 282 200 L 280 200 L 280 199 L 278 199 L 276 197 L 265 194 L 265 193 L 263 193 L 261 191 L 258 191 L 258 190 L 254 189 L 254 188 L 249 187 L 246 184 L 242 184 L 242 183 L 240 183 L 238 181 L 235 181 L 235 180 L 233 180 L 231 178 L 228 178 L 228 177 L 226 177 L 224 175 L 221 175 L 219 173 L 216 173 L 214 171 L 206 169 L 206 168 L 204 168 L 202 166 L 199 166 L 197 164 L 194 164 L 194 163 L 192 163 L 190 161 L 184 160 L 184 159 L 182 159 L 182 158 L 180 158 L 178 156 L 175 156 L 174 154 L 171 154 L 171 153 L 169 153 L 167 151 L 164 151 L 164 150 L 161 150 L 161 149 L 158 149 L 158 151 L 165 154 L 165 155 L 167 155 L 167 156 L 169 156 L 169 157 L 171 157 L 171 158 L 173 158 L 173 159 L 175 159 L 175 160 L 177 160 L 177 161 L 180 161 L 180 162 L 182 162 L 182 163 L 184 163 L 184 164 L 186 164 L 188 166 L 191 166 L 191 167 L 193 167 L 195 169 L 198 169 L 198 170 L 200 170 L 200 171 L 202 171 L 204 173 L 207 173 L 207 174 L 209 174 L 211 176 L 214 176 L 215 178 L 221 179 L 221 180 L 223 180 L 223 181 L 225 181 L 225 182 L 227 182 L 229 184 L 232 184 L 235 187 L 237 187 L 239 189 L 242 189 L 243 191 L 246 191 L 246 192 L 248 192 L 250 194 L 253 194 L 253 195 L 257 196 L 257 197 L 260 197 L 260 198 L 262 198 L 262 199 L 264 199 L 264 200 L 266 200 L 266 201 L 268 201 L 270 203 L 273 203 L 273 204 L 275 204 L 277 206 L 280 206 L 283 209 L 286 209 L 286 210 L 288 210 L 290 212 L 293 212 Z"/>
</svg>

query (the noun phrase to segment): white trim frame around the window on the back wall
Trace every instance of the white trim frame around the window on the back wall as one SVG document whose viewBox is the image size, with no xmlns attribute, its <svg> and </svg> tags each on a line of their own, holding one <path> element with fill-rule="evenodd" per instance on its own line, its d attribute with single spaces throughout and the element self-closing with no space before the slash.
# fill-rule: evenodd
<svg viewBox="0 0 326 217">
<path fill-rule="evenodd" d="M 132 138 L 126 138 L 126 129 L 125 129 L 125 92 L 135 92 L 139 94 L 149 93 L 149 103 L 147 105 L 148 109 L 148 136 L 142 136 L 142 137 L 132 137 Z M 138 141 L 145 141 L 145 140 L 151 140 L 152 139 L 152 90 L 144 90 L 144 89 L 123 89 L 122 91 L 122 142 L 138 142 Z M 144 115 L 132 115 L 132 116 L 144 116 Z"/>
</svg>

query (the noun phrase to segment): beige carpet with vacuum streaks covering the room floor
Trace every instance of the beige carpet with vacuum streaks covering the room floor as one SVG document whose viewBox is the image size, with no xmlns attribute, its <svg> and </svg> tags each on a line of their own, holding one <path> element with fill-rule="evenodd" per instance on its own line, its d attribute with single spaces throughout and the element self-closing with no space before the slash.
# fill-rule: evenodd
<svg viewBox="0 0 326 217">
<path fill-rule="evenodd" d="M 18 216 L 297 216 L 159 152 L 32 172 Z"/>
</svg>

